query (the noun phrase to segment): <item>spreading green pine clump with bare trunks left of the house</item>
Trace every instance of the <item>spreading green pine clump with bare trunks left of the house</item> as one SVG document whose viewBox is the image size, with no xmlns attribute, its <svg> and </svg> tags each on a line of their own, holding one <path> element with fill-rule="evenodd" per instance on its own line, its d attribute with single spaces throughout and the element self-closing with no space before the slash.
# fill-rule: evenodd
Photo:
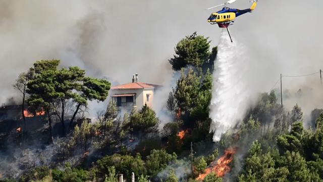
<svg viewBox="0 0 323 182">
<path fill-rule="evenodd" d="M 86 106 L 88 100 L 104 101 L 109 94 L 110 83 L 104 79 L 86 77 L 85 71 L 78 67 L 58 69 L 60 60 L 42 60 L 30 68 L 32 78 L 27 83 L 26 92 L 30 95 L 28 104 L 36 111 L 47 113 L 49 137 L 51 137 L 51 118 L 56 115 L 62 122 L 63 130 L 65 104 L 71 101 L 75 105 L 70 121 L 72 125 L 81 106 Z"/>
</svg>

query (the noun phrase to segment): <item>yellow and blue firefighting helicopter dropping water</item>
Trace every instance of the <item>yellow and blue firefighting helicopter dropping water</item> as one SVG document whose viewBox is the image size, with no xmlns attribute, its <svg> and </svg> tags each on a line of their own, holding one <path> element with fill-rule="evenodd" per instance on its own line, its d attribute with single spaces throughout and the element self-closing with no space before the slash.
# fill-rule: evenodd
<svg viewBox="0 0 323 182">
<path fill-rule="evenodd" d="M 215 12 L 215 13 L 212 13 L 210 15 L 210 17 L 207 19 L 207 21 L 212 25 L 218 24 L 220 28 L 227 28 L 227 31 L 229 33 L 231 42 L 233 42 L 233 41 L 232 41 L 232 38 L 231 38 L 231 35 L 230 35 L 228 27 L 230 25 L 233 25 L 234 20 L 238 16 L 243 15 L 245 13 L 251 13 L 257 7 L 257 2 L 258 2 L 258 0 L 250 1 L 250 3 L 252 3 L 251 8 L 245 9 L 245 10 L 238 10 L 238 9 L 232 9 L 232 8 L 227 7 L 227 5 L 230 5 L 230 4 L 232 4 L 232 3 L 236 2 L 236 1 L 237 0 L 230 0 L 228 2 L 225 2 L 222 5 L 218 5 L 218 6 L 214 6 L 214 7 L 206 9 L 206 10 L 210 10 L 210 9 L 213 9 L 213 8 L 224 6 L 222 10 L 220 10 L 218 12 Z"/>
</svg>

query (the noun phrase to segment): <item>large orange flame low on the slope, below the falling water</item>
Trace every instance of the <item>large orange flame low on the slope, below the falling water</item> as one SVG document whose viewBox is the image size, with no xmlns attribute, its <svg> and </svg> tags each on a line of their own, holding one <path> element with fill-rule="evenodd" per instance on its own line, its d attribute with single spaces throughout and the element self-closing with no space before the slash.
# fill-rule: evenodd
<svg viewBox="0 0 323 182">
<path fill-rule="evenodd" d="M 227 149 L 225 154 L 217 161 L 217 164 L 206 168 L 204 173 L 199 174 L 196 180 L 202 181 L 211 172 L 216 173 L 219 177 L 226 175 L 231 170 L 229 164 L 233 161 L 236 152 L 237 148 Z"/>
</svg>

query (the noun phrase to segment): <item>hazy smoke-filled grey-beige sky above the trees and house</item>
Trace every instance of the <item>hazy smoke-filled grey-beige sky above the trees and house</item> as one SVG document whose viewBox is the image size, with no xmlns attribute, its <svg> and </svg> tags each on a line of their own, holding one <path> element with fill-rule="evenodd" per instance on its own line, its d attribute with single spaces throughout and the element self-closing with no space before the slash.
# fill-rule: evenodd
<svg viewBox="0 0 323 182">
<path fill-rule="evenodd" d="M 218 44 L 221 29 L 206 21 L 205 8 L 223 1 L 0 0 L 0 103 L 14 96 L 18 73 L 41 59 L 61 59 L 89 75 L 124 83 L 139 73 L 145 82 L 163 84 L 172 70 L 168 59 L 176 43 L 194 31 Z M 259 0 L 253 13 L 238 17 L 232 36 L 247 50 L 255 89 L 269 90 L 279 73 L 323 69 L 321 0 Z M 245 9 L 248 0 L 232 8 Z M 216 11 L 216 10 L 214 10 Z M 306 13 L 304 13 L 306 12 Z M 238 60 L 239 61 L 239 60 Z M 288 81 L 286 86 L 306 82 Z"/>
</svg>

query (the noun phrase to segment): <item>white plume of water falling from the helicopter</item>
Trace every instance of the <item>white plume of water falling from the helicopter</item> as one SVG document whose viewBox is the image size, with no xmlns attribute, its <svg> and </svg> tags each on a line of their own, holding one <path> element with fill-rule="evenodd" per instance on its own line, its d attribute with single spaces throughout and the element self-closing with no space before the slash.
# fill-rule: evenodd
<svg viewBox="0 0 323 182">
<path fill-rule="evenodd" d="M 231 42 L 227 30 L 223 29 L 214 63 L 210 104 L 210 132 L 214 132 L 213 141 L 220 141 L 223 133 L 238 124 L 250 106 L 252 92 L 247 83 L 250 71 L 244 50 L 237 40 Z"/>
</svg>

